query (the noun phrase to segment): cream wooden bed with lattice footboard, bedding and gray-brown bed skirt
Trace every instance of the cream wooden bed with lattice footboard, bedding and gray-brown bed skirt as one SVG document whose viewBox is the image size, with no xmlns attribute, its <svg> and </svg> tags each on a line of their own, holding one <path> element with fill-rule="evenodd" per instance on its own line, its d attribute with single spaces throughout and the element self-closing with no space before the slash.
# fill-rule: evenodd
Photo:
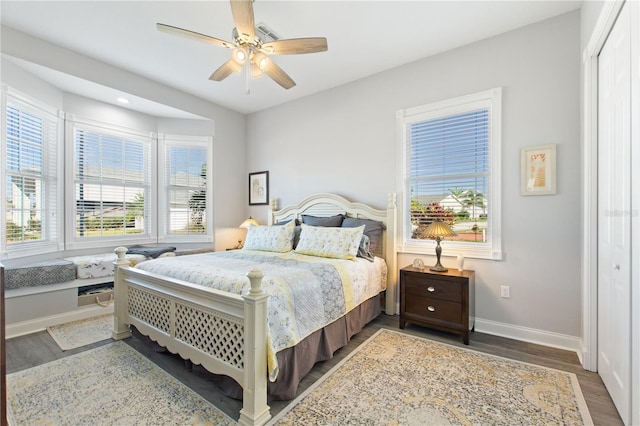
<svg viewBox="0 0 640 426">
<path fill-rule="evenodd" d="M 337 216 L 343 217 L 344 226 L 333 228 L 329 222 Z M 298 221 L 303 223 L 297 225 Z M 384 231 L 366 232 L 374 223 L 382 224 Z M 240 424 L 266 423 L 268 397 L 289 399 L 315 362 L 330 358 L 381 309 L 396 313 L 395 194 L 389 195 L 386 209 L 334 194 L 313 195 L 280 210 L 272 202 L 268 225 L 250 230 L 243 250 L 153 260 L 138 267 L 128 265 L 126 248 L 116 249 L 113 338 L 130 336 L 132 325 L 170 352 L 231 378 L 241 387 Z M 301 234 L 295 251 L 273 248 L 279 247 L 274 236 L 285 241 L 296 231 Z M 318 241 L 314 233 L 322 238 L 337 235 L 341 242 L 358 240 L 360 249 L 370 240 L 375 258 L 327 255 L 313 245 Z M 205 284 L 213 275 L 217 288 Z M 334 275 L 343 278 L 341 284 L 322 281 Z M 297 298 L 304 303 L 287 302 L 281 293 L 302 290 L 298 284 L 275 287 L 281 281 L 299 282 L 301 287 L 317 282 L 321 290 L 311 289 Z M 383 282 L 375 288 L 365 281 Z M 338 293 L 343 297 L 335 296 Z M 319 306 L 327 294 L 335 299 L 330 309 L 321 315 L 309 309 Z M 294 311 L 312 314 L 304 319 L 288 316 Z M 293 331 L 284 327 L 289 323 Z M 278 328 L 285 331 L 274 334 Z"/>
</svg>

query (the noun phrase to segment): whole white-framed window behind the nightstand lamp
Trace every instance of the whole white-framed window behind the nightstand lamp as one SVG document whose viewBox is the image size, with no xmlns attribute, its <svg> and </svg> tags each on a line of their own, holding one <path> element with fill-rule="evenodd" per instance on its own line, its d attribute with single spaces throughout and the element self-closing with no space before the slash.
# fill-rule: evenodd
<svg viewBox="0 0 640 426">
<path fill-rule="evenodd" d="M 501 89 L 398 113 L 404 250 L 432 253 L 434 220 L 457 236 L 449 252 L 501 259 Z"/>
</svg>

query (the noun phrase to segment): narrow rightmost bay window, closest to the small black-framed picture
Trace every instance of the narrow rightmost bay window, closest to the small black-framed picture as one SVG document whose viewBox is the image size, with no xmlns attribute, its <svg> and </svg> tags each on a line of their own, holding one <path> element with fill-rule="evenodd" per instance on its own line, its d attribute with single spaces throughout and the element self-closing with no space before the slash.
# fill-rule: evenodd
<svg viewBox="0 0 640 426">
<path fill-rule="evenodd" d="M 161 135 L 161 241 L 212 241 L 211 138 Z"/>
</svg>

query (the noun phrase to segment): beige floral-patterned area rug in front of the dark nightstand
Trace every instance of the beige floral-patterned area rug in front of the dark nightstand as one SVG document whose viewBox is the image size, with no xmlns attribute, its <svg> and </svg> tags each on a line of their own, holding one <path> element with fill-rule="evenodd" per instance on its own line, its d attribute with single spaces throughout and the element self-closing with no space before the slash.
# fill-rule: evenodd
<svg viewBox="0 0 640 426">
<path fill-rule="evenodd" d="M 592 424 L 575 374 L 380 330 L 278 425 Z"/>
</svg>

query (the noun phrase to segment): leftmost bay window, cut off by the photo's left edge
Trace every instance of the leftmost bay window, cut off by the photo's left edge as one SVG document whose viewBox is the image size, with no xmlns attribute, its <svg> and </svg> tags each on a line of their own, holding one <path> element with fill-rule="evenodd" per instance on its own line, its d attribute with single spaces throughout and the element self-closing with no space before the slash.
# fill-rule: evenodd
<svg viewBox="0 0 640 426">
<path fill-rule="evenodd" d="M 3 90 L 2 218 L 6 257 L 59 249 L 57 111 Z"/>
</svg>

